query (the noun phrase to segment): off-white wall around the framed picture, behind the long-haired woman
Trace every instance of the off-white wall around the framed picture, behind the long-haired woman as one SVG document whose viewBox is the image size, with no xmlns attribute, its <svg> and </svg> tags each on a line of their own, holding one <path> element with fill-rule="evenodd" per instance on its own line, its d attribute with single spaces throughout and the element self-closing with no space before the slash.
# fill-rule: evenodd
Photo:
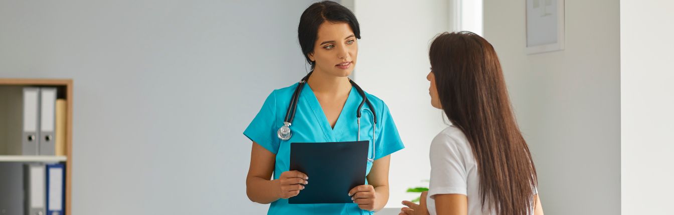
<svg viewBox="0 0 674 215">
<path fill-rule="evenodd" d="M 565 4 L 563 51 L 526 54 L 524 0 L 485 0 L 485 38 L 501 59 L 546 214 L 620 214 L 619 3 Z"/>
</svg>

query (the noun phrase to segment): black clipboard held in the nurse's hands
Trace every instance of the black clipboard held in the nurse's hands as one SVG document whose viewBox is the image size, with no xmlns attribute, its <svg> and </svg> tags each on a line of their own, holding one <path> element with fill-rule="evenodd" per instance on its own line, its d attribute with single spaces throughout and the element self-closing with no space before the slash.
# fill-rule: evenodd
<svg viewBox="0 0 674 215">
<path fill-rule="evenodd" d="M 288 204 L 353 203 L 348 191 L 365 184 L 369 141 L 290 143 L 290 171 L 307 174 L 309 184 Z"/>
</svg>

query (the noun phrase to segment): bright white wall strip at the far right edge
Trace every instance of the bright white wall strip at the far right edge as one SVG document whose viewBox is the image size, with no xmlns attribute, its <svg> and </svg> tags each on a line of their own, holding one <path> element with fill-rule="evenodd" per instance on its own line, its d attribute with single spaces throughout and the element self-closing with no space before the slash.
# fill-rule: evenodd
<svg viewBox="0 0 674 215">
<path fill-rule="evenodd" d="M 623 214 L 671 214 L 674 3 L 620 1 Z"/>
</svg>

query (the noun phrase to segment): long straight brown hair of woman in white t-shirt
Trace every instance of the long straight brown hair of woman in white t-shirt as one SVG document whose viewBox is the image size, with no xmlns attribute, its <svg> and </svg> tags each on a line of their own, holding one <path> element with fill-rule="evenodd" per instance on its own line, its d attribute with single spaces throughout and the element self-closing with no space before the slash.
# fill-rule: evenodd
<svg viewBox="0 0 674 215">
<path fill-rule="evenodd" d="M 429 51 L 442 109 L 477 160 L 482 207 L 530 214 L 536 167 L 520 133 L 496 52 L 472 32 L 439 34 Z"/>
</svg>

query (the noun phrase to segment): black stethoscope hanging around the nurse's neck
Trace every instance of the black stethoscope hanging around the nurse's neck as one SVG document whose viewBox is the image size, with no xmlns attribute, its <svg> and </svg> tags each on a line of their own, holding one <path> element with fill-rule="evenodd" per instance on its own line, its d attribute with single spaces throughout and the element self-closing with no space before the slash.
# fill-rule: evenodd
<svg viewBox="0 0 674 215">
<path fill-rule="evenodd" d="M 307 80 L 309 80 L 309 76 L 311 75 L 312 72 L 307 74 L 301 81 L 299 81 L 299 84 L 297 84 L 297 87 L 295 88 L 295 93 L 293 93 L 293 98 L 290 100 L 290 104 L 288 105 L 288 111 L 286 111 L 286 118 L 283 120 L 283 126 L 281 128 L 278 128 L 278 132 L 276 132 L 277 136 L 281 140 L 290 140 L 290 136 L 293 136 L 293 132 L 290 130 L 290 125 L 293 124 L 293 119 L 295 118 L 295 110 L 297 110 L 297 101 L 299 100 L 299 93 L 302 91 L 302 88 L 304 87 L 305 83 L 307 83 Z M 361 89 L 353 80 L 349 79 L 348 80 L 353 87 L 356 87 L 356 90 L 358 93 L 363 97 L 363 101 L 361 101 L 361 104 L 358 105 L 358 110 L 356 112 L 356 118 L 358 122 L 358 135 L 357 135 L 357 141 L 361 141 L 361 112 L 363 110 L 368 110 L 368 109 L 362 109 L 363 104 L 367 103 L 367 106 L 370 107 L 369 112 L 372 114 L 372 158 L 367 157 L 368 162 L 374 162 L 375 161 L 375 130 L 377 130 L 377 114 L 375 114 L 374 107 L 372 106 L 372 103 L 367 99 L 367 96 L 365 96 L 365 91 Z"/>
</svg>

